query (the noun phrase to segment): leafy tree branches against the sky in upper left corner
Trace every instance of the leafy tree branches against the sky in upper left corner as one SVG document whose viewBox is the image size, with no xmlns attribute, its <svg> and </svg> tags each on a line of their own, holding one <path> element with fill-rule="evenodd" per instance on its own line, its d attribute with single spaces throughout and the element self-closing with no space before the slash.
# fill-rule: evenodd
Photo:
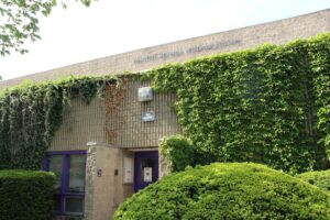
<svg viewBox="0 0 330 220">
<path fill-rule="evenodd" d="M 41 38 L 37 18 L 50 15 L 57 4 L 66 8 L 64 1 L 68 0 L 0 0 L 0 55 L 26 53 L 23 44 Z M 88 7 L 92 0 L 79 1 Z"/>
</svg>

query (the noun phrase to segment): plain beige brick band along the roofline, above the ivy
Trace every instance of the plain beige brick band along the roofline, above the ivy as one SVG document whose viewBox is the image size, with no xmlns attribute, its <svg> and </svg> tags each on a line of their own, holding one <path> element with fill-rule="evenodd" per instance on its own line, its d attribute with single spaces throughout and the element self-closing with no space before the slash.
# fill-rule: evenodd
<svg viewBox="0 0 330 220">
<path fill-rule="evenodd" d="M 282 44 L 295 38 L 306 38 L 318 33 L 329 32 L 330 9 L 265 24 L 142 48 L 0 81 L 0 89 L 18 85 L 24 79 L 44 81 L 69 75 L 108 75 L 122 72 L 139 72 L 157 67 L 165 63 L 185 62 L 215 53 L 252 48 L 264 43 Z"/>
</svg>

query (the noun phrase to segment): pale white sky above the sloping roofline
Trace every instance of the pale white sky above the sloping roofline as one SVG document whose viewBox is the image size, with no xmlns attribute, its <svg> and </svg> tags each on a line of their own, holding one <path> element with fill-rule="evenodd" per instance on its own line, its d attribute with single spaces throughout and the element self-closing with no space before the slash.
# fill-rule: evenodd
<svg viewBox="0 0 330 220">
<path fill-rule="evenodd" d="M 28 54 L 0 56 L 3 80 L 330 8 L 330 0 L 74 0 L 40 18 Z M 1 18 L 0 18 L 1 19 Z"/>
</svg>

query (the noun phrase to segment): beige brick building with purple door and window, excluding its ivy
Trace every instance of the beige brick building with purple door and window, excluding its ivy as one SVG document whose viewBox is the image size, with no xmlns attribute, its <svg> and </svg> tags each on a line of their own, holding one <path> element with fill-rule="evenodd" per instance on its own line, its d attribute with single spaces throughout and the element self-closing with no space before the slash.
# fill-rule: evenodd
<svg viewBox="0 0 330 220">
<path fill-rule="evenodd" d="M 329 9 L 6 80 L 0 82 L 0 88 L 15 86 L 24 79 L 44 81 L 69 75 L 141 72 L 166 63 L 264 43 L 282 44 L 328 32 Z M 172 108 L 176 97 L 173 94 L 147 96 L 152 92 L 148 86 L 147 81 L 127 81 L 112 102 L 94 99 L 86 105 L 79 98 L 72 100 L 72 110 L 65 116 L 45 160 L 45 167 L 61 177 L 55 195 L 55 211 L 59 216 L 110 219 L 127 197 L 162 176 L 160 140 L 180 132 Z"/>
</svg>

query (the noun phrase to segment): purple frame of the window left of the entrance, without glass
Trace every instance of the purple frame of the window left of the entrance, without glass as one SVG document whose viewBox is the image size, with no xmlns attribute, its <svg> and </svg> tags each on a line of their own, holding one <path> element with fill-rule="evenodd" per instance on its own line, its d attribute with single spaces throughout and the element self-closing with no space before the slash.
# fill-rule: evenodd
<svg viewBox="0 0 330 220">
<path fill-rule="evenodd" d="M 86 164 L 85 158 L 85 185 L 84 193 L 68 193 L 69 185 L 69 156 L 70 155 L 87 155 L 87 151 L 61 151 L 61 152 L 47 152 L 43 161 L 43 169 L 50 172 L 50 158 L 54 155 L 62 155 L 62 175 L 61 175 L 61 193 L 54 193 L 61 197 L 61 211 L 54 211 L 56 216 L 84 216 L 85 213 L 85 193 L 86 193 Z M 82 199 L 82 212 L 67 212 L 66 199 L 67 198 L 81 198 Z"/>
</svg>

